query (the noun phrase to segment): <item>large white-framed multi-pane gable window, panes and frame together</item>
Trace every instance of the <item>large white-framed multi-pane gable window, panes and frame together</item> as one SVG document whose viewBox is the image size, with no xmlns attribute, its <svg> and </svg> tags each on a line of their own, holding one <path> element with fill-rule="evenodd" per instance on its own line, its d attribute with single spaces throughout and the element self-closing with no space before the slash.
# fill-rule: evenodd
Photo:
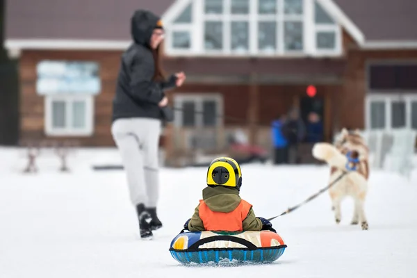
<svg viewBox="0 0 417 278">
<path fill-rule="evenodd" d="M 167 24 L 167 54 L 341 54 L 341 28 L 316 0 L 182 3 Z"/>
</svg>

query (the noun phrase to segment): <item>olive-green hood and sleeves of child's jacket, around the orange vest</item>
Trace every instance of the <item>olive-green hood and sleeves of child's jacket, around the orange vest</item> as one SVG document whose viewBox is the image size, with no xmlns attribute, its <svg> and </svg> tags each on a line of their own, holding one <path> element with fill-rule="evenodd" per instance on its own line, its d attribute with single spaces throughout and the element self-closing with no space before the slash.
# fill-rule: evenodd
<svg viewBox="0 0 417 278">
<path fill-rule="evenodd" d="M 203 189 L 203 199 L 211 211 L 229 213 L 240 204 L 239 191 L 236 188 L 226 188 L 216 186 L 215 188 L 206 187 Z M 262 222 L 256 218 L 253 208 L 250 208 L 247 217 L 242 222 L 243 231 L 261 231 Z M 202 219 L 199 217 L 199 205 L 195 208 L 194 215 L 188 222 L 190 231 L 206 231 Z"/>
</svg>

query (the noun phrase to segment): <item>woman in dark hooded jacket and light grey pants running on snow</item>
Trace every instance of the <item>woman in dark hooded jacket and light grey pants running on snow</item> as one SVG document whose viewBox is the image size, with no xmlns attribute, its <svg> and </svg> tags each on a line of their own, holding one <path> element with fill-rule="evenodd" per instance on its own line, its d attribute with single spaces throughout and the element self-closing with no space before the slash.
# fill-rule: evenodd
<svg viewBox="0 0 417 278">
<path fill-rule="evenodd" d="M 158 16 L 136 10 L 131 18 L 131 35 L 133 44 L 122 56 L 113 99 L 111 132 L 138 213 L 140 236 L 152 238 L 152 230 L 162 227 L 156 204 L 159 136 L 168 103 L 164 92 L 181 86 L 186 76 L 180 72 L 166 80 L 161 72 L 159 45 L 164 31 Z"/>
</svg>

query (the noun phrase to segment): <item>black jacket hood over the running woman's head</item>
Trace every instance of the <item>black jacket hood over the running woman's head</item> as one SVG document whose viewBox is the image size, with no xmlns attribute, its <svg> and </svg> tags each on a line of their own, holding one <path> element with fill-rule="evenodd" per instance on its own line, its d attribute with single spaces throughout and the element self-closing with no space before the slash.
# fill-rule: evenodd
<svg viewBox="0 0 417 278">
<path fill-rule="evenodd" d="M 131 36 L 137 44 L 149 47 L 154 28 L 162 28 L 161 18 L 149 10 L 136 10 L 131 18 Z"/>
</svg>

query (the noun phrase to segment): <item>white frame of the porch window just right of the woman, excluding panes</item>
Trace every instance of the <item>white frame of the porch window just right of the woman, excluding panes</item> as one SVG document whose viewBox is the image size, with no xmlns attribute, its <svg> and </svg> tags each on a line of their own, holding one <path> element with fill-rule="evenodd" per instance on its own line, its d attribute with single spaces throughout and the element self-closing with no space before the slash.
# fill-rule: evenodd
<svg viewBox="0 0 417 278">
<path fill-rule="evenodd" d="M 189 129 L 209 129 L 212 127 L 223 126 L 223 118 L 217 117 L 215 126 L 204 126 L 203 125 L 203 102 L 204 101 L 215 101 L 216 102 L 216 111 L 215 115 L 223 115 L 224 101 L 223 96 L 220 93 L 184 93 L 184 94 L 175 94 L 174 95 L 174 107 L 182 108 L 182 104 L 185 101 L 193 101 L 195 103 L 195 126 L 183 126 L 183 113 L 181 110 L 176 110 L 174 115 L 174 126 L 180 128 L 189 128 Z"/>
</svg>

